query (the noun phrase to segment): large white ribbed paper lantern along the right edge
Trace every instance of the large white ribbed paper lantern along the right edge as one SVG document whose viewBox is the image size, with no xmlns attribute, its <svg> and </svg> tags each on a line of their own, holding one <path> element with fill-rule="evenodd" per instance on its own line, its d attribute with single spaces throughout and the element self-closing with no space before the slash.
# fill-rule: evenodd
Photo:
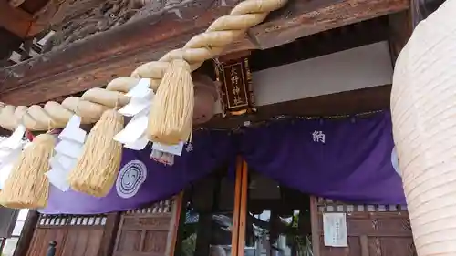
<svg viewBox="0 0 456 256">
<path fill-rule="evenodd" d="M 416 27 L 396 63 L 394 140 L 418 255 L 456 255 L 456 0 Z"/>
</svg>

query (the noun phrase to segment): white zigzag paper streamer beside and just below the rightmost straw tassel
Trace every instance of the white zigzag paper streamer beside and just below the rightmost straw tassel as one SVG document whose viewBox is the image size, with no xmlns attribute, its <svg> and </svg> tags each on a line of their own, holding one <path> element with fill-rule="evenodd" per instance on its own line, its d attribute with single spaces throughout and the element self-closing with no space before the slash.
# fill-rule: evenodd
<svg viewBox="0 0 456 256">
<path fill-rule="evenodd" d="M 124 144 L 125 148 L 142 150 L 149 143 L 146 129 L 149 123 L 150 105 L 155 96 L 150 89 L 150 79 L 141 78 L 140 82 L 126 96 L 131 97 L 130 103 L 120 108 L 119 113 L 132 118 L 127 126 L 114 137 L 114 140 Z M 183 142 L 171 146 L 154 143 L 150 159 L 165 165 L 172 165 L 174 156 L 181 156 L 182 147 Z"/>
</svg>

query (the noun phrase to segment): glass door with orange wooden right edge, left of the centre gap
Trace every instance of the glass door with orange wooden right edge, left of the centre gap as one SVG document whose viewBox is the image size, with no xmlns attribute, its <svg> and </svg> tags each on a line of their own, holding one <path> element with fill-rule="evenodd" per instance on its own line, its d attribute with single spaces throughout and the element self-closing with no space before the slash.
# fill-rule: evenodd
<svg viewBox="0 0 456 256">
<path fill-rule="evenodd" d="M 238 171 L 217 169 L 185 190 L 175 256 L 237 255 Z"/>
</svg>

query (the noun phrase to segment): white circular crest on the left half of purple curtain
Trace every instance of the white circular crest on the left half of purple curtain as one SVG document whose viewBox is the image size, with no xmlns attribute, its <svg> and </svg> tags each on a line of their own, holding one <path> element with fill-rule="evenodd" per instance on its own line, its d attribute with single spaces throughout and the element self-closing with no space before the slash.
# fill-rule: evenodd
<svg viewBox="0 0 456 256">
<path fill-rule="evenodd" d="M 146 180 L 147 168 L 140 160 L 131 160 L 119 171 L 116 190 L 119 197 L 128 199 L 136 195 Z"/>
</svg>

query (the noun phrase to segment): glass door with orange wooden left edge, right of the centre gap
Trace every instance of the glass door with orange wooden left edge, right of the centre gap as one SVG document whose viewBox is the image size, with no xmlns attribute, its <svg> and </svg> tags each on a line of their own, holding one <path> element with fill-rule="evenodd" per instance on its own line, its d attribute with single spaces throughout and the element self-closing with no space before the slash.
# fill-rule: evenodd
<svg viewBox="0 0 456 256">
<path fill-rule="evenodd" d="M 310 197 L 243 164 L 238 254 L 312 256 Z"/>
</svg>

